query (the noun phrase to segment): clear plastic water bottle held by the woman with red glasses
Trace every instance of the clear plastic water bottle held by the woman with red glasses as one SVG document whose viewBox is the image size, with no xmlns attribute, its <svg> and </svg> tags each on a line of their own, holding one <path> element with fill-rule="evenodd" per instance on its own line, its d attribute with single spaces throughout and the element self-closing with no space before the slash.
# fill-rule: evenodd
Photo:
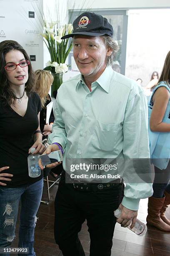
<svg viewBox="0 0 170 256">
<path fill-rule="evenodd" d="M 38 165 L 39 155 L 32 155 L 35 148 L 30 148 L 30 154 L 28 156 L 28 175 L 31 178 L 36 178 L 41 175 L 41 169 Z"/>
</svg>

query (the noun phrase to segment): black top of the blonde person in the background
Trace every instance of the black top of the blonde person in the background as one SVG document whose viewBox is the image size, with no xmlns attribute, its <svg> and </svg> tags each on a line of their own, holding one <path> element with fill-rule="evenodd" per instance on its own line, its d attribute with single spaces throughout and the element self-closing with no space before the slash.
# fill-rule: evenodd
<svg viewBox="0 0 170 256">
<path fill-rule="evenodd" d="M 44 130 L 44 125 L 46 124 L 47 105 L 51 102 L 51 97 L 49 94 L 47 95 L 46 99 L 47 101 L 45 102 L 45 107 L 42 108 L 42 110 L 40 111 L 40 130 L 42 132 Z M 53 110 L 51 110 L 51 114 L 50 114 L 49 124 L 50 123 L 54 123 Z"/>
</svg>

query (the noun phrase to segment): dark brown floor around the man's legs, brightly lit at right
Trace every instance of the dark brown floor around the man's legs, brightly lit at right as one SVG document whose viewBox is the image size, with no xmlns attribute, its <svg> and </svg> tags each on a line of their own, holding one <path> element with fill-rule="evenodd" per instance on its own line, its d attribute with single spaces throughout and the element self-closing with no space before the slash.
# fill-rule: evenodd
<svg viewBox="0 0 170 256">
<path fill-rule="evenodd" d="M 56 191 L 57 186 L 54 186 L 50 191 L 50 204 L 44 205 L 41 203 L 37 214 L 39 219 L 35 228 L 34 246 L 36 256 L 62 256 L 62 253 L 58 246 L 55 244 L 53 237 L 54 199 Z M 45 195 L 46 191 L 43 193 L 43 196 Z M 146 223 L 147 204 L 147 199 L 140 200 L 138 219 L 144 223 Z M 170 218 L 170 207 L 167 211 L 167 217 Z M 86 223 L 83 223 L 79 237 L 86 256 L 89 256 L 90 237 L 89 233 L 87 232 Z M 17 246 L 17 243 L 18 241 L 16 238 L 13 246 Z M 148 227 L 148 233 L 146 237 L 139 237 L 128 228 L 122 228 L 118 223 L 116 224 L 111 256 L 151 255 L 170 256 L 170 233 L 165 233 L 156 228 Z"/>
</svg>

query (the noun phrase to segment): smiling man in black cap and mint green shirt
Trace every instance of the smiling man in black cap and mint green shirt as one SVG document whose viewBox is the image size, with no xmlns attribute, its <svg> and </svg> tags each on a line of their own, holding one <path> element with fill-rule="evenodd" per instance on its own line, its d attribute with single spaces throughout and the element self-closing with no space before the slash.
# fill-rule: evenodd
<svg viewBox="0 0 170 256">
<path fill-rule="evenodd" d="M 89 169 L 84 169 L 83 179 L 72 176 L 75 170 L 82 174 L 82 169 L 80 164 L 68 167 L 68 159 L 101 163 L 102 159 L 149 158 L 147 103 L 133 80 L 111 68 L 117 44 L 108 20 L 85 12 L 75 19 L 73 28 L 62 39 L 73 38 L 73 56 L 81 74 L 58 90 L 51 145 L 46 150 L 47 154 L 64 150 L 64 171 L 55 199 L 55 240 L 64 256 L 85 256 L 77 234 L 86 219 L 90 256 L 110 256 L 114 210 L 122 210 L 117 222 L 123 227 L 132 222 L 133 227 L 140 198 L 152 195 L 152 185 L 126 184 L 124 194 L 121 177 L 114 183 L 114 178 L 106 180 L 103 175 L 94 183 Z"/>
</svg>

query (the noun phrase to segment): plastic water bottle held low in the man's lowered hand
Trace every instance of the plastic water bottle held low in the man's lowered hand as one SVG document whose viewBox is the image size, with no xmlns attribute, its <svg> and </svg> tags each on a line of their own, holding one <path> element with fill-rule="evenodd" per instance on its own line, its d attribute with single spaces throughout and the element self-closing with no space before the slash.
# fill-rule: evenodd
<svg viewBox="0 0 170 256">
<path fill-rule="evenodd" d="M 115 210 L 114 214 L 116 218 L 119 218 L 121 215 L 121 210 L 120 209 Z M 143 222 L 137 219 L 135 222 L 135 226 L 133 228 L 130 228 L 130 226 L 131 224 L 127 228 L 132 230 L 135 234 L 137 234 L 138 236 L 145 236 L 147 232 L 147 226 Z"/>
</svg>

